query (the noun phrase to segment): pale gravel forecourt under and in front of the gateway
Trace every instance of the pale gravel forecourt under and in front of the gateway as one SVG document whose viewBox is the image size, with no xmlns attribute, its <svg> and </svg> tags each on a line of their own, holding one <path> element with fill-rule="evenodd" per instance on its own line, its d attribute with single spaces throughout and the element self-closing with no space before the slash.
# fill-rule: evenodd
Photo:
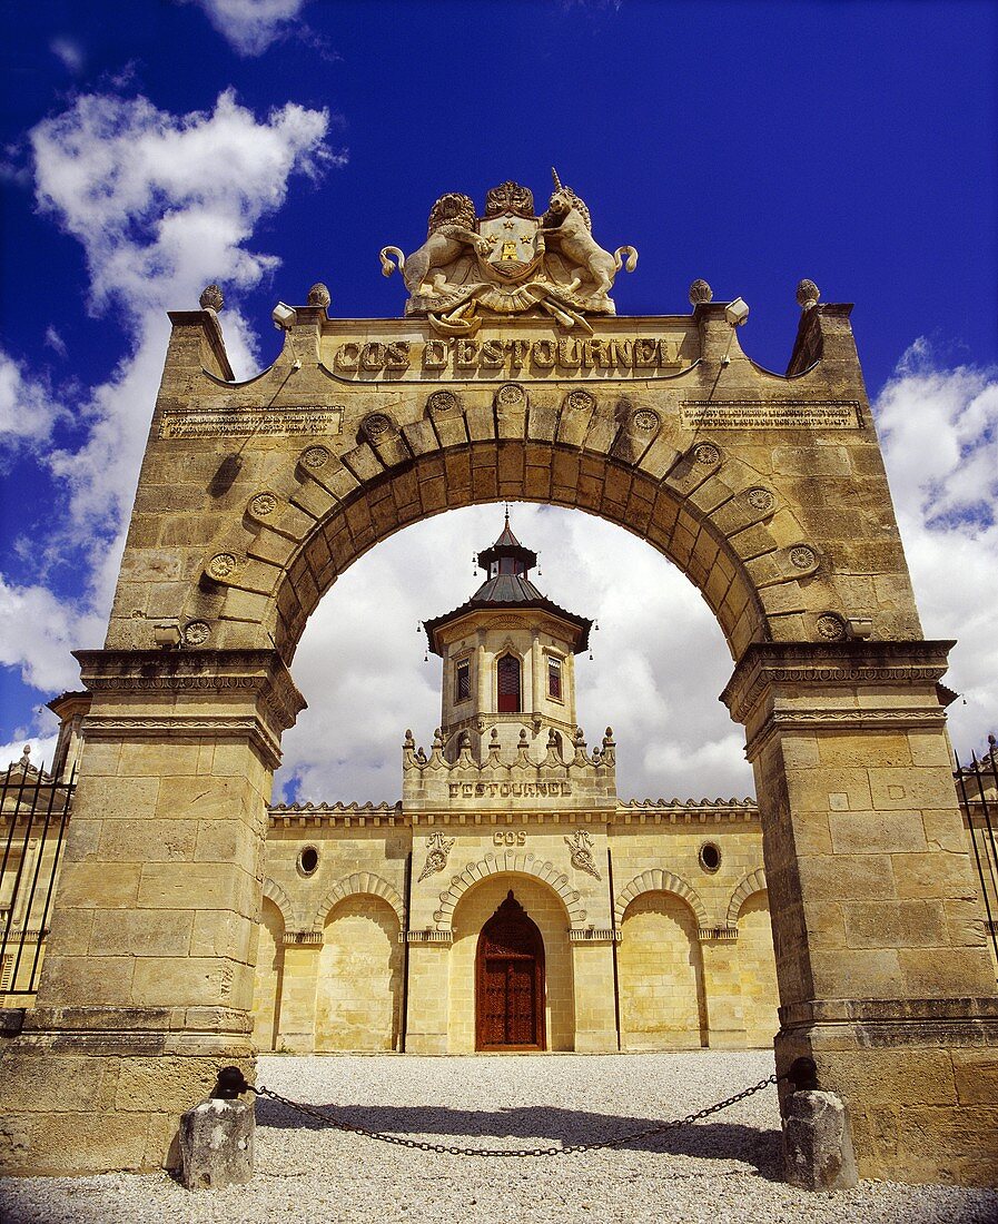
<svg viewBox="0 0 998 1224">
<path fill-rule="evenodd" d="M 458 1146 L 550 1147 L 639 1131 L 773 1072 L 763 1051 L 618 1055 L 267 1056 L 258 1082 L 334 1103 L 371 1130 Z M 997 1191 L 862 1182 L 811 1195 L 780 1181 L 775 1088 L 671 1135 L 562 1158 L 469 1159 L 323 1130 L 257 1104 L 250 1186 L 189 1193 L 165 1174 L 0 1186 L 4 1224 L 514 1224 L 656 1222 L 994 1224 Z"/>
</svg>

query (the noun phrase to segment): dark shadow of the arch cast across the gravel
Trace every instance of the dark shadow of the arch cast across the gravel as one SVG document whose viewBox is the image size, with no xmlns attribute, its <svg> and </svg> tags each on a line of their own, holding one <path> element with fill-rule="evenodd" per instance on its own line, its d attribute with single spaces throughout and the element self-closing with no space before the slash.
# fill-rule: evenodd
<svg viewBox="0 0 998 1224">
<path fill-rule="evenodd" d="M 553 1147 L 558 1143 L 568 1147 L 573 1143 L 616 1140 L 618 1136 L 648 1130 L 650 1126 L 660 1126 L 667 1120 L 590 1114 L 584 1110 L 555 1109 L 545 1105 L 493 1111 L 424 1105 L 312 1105 L 312 1108 L 322 1109 L 331 1119 L 349 1126 L 362 1126 L 369 1131 L 383 1131 L 403 1138 L 418 1137 L 425 1142 L 441 1142 L 454 1147 Z M 256 1103 L 256 1121 L 257 1126 L 273 1126 L 280 1130 L 336 1130 L 266 1098 Z M 740 1160 L 754 1168 L 768 1181 L 784 1180 L 780 1132 L 743 1126 L 738 1122 L 694 1122 L 680 1130 L 666 1131 L 664 1135 L 615 1144 L 613 1151 L 658 1152 L 662 1155 L 686 1155 L 703 1160 Z"/>
</svg>

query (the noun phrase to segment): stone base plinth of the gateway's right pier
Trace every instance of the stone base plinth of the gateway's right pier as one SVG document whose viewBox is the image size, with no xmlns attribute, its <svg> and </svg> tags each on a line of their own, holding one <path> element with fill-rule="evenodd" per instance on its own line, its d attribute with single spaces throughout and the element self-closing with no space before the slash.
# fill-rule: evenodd
<svg viewBox="0 0 998 1224">
<path fill-rule="evenodd" d="M 809 1056 L 849 1106 L 861 1177 L 998 1185 L 998 999 L 780 1009 L 776 1070 Z M 780 1084 L 786 1116 L 790 1086 Z"/>
</svg>

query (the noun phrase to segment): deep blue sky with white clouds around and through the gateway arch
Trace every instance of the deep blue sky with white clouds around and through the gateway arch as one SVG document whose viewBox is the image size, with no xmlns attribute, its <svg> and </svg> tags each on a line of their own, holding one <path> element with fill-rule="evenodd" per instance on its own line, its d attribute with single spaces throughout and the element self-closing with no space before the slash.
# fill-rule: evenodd
<svg viewBox="0 0 998 1224">
<path fill-rule="evenodd" d="M 382 245 L 418 245 L 443 191 L 481 201 L 513 177 L 542 198 L 551 164 L 604 246 L 640 252 L 622 315 L 683 312 L 704 277 L 749 302 L 740 339 L 779 371 L 801 277 L 856 302 L 926 630 L 961 640 L 954 738 L 996 730 L 998 6 L 43 0 L 4 15 L 0 745 L 49 749 L 38 707 L 76 683 L 69 650 L 100 643 L 164 311 L 219 280 L 249 373 L 276 355 L 277 299 L 322 279 L 336 315 L 399 313 Z M 716 703 L 730 661 L 696 591 L 601 524 L 517 513 L 558 558 L 552 596 L 602 618 L 580 714 L 631 737 L 622 788 L 751 789 Z M 416 595 L 407 575 L 445 545 L 469 556 L 493 518 L 403 532 L 325 601 L 299 656 L 315 679 L 287 744 L 298 793 L 394 797 L 400 731 L 429 738 L 435 720 L 411 627 L 474 583 L 456 564 Z M 388 588 L 398 670 L 351 672 L 365 600 Z"/>
</svg>

